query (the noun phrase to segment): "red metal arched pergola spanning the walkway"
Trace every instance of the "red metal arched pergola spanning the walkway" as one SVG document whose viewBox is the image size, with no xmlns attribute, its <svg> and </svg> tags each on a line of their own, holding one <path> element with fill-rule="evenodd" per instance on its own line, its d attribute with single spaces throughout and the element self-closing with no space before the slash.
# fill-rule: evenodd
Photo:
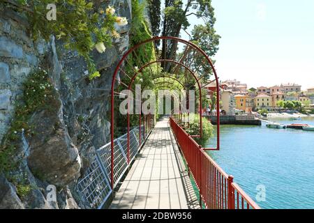
<svg viewBox="0 0 314 223">
<path fill-rule="evenodd" d="M 123 65 L 124 63 L 130 63 L 128 61 L 128 56 L 131 55 L 131 54 L 135 54 L 136 55 L 136 52 L 135 50 L 138 49 L 139 47 L 141 46 L 144 46 L 146 44 L 152 44 L 154 45 L 154 42 L 155 41 L 158 41 L 158 40 L 164 40 L 164 41 L 172 41 L 174 43 L 176 43 L 177 45 L 180 43 L 180 44 L 184 44 L 185 46 L 185 51 L 184 51 L 184 54 L 182 54 L 183 56 L 181 56 L 181 58 L 179 59 L 179 61 L 176 61 L 177 58 L 179 58 L 177 56 L 177 52 L 176 54 L 174 54 L 174 58 L 160 58 L 158 59 L 158 56 L 156 56 L 156 61 L 150 61 L 149 63 L 146 63 L 144 65 L 142 65 L 139 69 L 133 69 L 135 72 L 133 73 L 133 75 L 128 75 L 126 73 L 126 71 L 123 70 Z M 216 70 L 214 68 L 214 64 L 211 62 L 211 60 L 209 59 L 209 56 L 207 56 L 207 54 L 202 50 L 200 49 L 200 47 L 198 47 L 197 45 L 195 45 L 194 43 L 190 43 L 186 40 L 183 40 L 181 38 L 176 38 L 176 37 L 154 37 L 154 38 L 151 38 L 151 39 L 148 39 L 148 40 L 145 40 L 144 42 L 138 44 L 138 45 L 135 45 L 134 47 L 130 48 L 128 50 L 128 52 L 126 52 L 126 54 L 124 54 L 124 56 L 122 57 L 122 59 L 119 61 L 116 69 L 114 70 L 114 75 L 112 77 L 112 86 L 111 86 L 111 127 L 110 127 L 110 130 L 111 130 L 111 183 L 112 183 L 112 187 L 114 185 L 114 94 L 117 93 L 116 91 L 114 91 L 115 89 L 115 83 L 116 81 L 119 81 L 120 84 L 122 84 L 123 86 L 126 86 L 126 88 L 128 90 L 131 90 L 131 86 L 133 84 L 133 82 L 135 81 L 135 78 L 137 77 L 137 75 L 139 75 L 142 70 L 144 70 L 144 68 L 148 68 L 150 67 L 151 65 L 153 65 L 154 63 L 174 63 L 176 64 L 177 66 L 180 66 L 181 68 L 184 68 L 185 70 L 188 71 L 188 75 L 190 75 L 190 77 L 193 77 L 193 79 L 195 79 L 195 83 L 197 85 L 197 89 L 199 91 L 199 113 L 200 113 L 200 134 L 199 135 L 195 135 L 193 137 L 202 137 L 202 86 L 200 84 L 200 79 L 202 79 L 202 77 L 204 77 L 204 75 L 206 74 L 201 74 L 200 77 L 197 77 L 197 70 L 193 71 L 190 66 L 191 66 L 191 63 L 192 62 L 189 62 L 188 64 L 184 64 L 184 56 L 186 56 L 186 53 L 188 50 L 193 50 L 194 51 L 194 54 L 193 56 L 195 56 L 195 53 L 196 54 L 200 54 L 204 61 L 207 61 L 207 64 L 211 67 L 211 70 L 213 70 L 213 73 L 214 73 L 214 81 L 213 82 L 216 82 L 216 91 L 217 91 L 217 111 L 219 111 L 219 83 L 218 83 L 218 76 L 217 76 L 217 73 L 216 73 Z M 144 47 L 144 53 L 147 54 L 147 52 L 145 51 L 145 47 Z M 137 57 L 137 56 L 136 56 Z M 193 58 L 194 62 L 195 62 L 195 58 Z M 148 57 L 147 57 L 147 61 L 149 61 Z M 140 64 L 139 64 L 140 66 Z M 176 66 L 176 69 L 177 69 L 177 66 Z M 131 64 L 131 67 L 132 64 Z M 128 82 L 128 84 L 124 83 L 124 82 L 121 82 L 120 79 L 117 79 L 117 75 L 118 73 L 121 72 L 123 73 L 126 77 L 128 77 L 130 79 L 130 81 Z M 132 77 L 130 77 L 132 76 Z M 166 77 L 168 78 L 167 76 L 161 76 L 161 77 Z M 157 77 L 157 78 L 160 78 L 160 77 Z M 174 79 L 174 77 L 172 77 Z M 182 86 L 184 86 L 184 84 L 181 83 L 181 80 L 178 80 L 176 79 L 177 82 L 179 82 Z M 118 92 L 119 93 L 119 92 Z M 129 107 L 129 105 L 128 105 Z M 130 136 L 129 136 L 129 132 L 130 132 L 130 114 L 128 112 L 127 114 L 128 116 L 128 157 L 129 157 L 129 143 L 130 143 Z M 219 112 L 217 112 L 217 147 L 215 149 L 219 149 L 220 147 L 220 144 L 219 144 Z M 140 125 L 141 125 L 141 115 L 140 115 Z M 129 158 L 128 158 L 128 162 L 130 162 Z"/>
</svg>

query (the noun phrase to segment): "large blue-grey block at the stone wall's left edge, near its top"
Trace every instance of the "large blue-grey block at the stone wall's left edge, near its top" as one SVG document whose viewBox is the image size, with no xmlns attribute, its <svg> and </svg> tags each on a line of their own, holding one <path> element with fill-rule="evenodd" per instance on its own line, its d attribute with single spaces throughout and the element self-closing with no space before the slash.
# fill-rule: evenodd
<svg viewBox="0 0 314 223">
<path fill-rule="evenodd" d="M 1 36 L 0 37 L 0 56 L 8 57 L 8 58 L 23 58 L 23 49 L 20 45 L 17 45 L 12 40 Z"/>
</svg>

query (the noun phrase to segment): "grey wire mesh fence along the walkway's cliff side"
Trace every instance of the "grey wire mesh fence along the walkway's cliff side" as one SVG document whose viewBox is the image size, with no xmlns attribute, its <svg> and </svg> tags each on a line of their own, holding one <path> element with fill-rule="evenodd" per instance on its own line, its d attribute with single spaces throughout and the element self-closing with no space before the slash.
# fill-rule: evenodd
<svg viewBox="0 0 314 223">
<path fill-rule="evenodd" d="M 141 142 L 144 144 L 144 127 L 142 126 Z M 130 161 L 132 161 L 140 150 L 140 128 L 130 131 Z M 111 178 L 111 144 L 105 144 L 96 150 L 93 162 L 84 172 L 77 183 L 77 192 L 91 208 L 101 208 L 107 201 L 112 188 Z M 117 186 L 122 176 L 128 169 L 128 134 L 124 134 L 114 140 L 114 187 Z"/>
</svg>

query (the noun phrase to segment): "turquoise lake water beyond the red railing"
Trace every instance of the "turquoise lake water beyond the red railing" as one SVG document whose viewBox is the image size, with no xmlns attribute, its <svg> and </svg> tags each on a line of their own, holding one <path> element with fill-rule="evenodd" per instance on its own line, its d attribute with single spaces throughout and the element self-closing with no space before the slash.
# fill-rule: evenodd
<svg viewBox="0 0 314 223">
<path fill-rule="evenodd" d="M 314 118 L 273 120 L 314 125 Z M 220 135 L 220 151 L 209 154 L 255 201 L 257 185 L 264 185 L 266 201 L 257 202 L 261 208 L 314 208 L 314 132 L 262 123 L 222 125 Z"/>
</svg>

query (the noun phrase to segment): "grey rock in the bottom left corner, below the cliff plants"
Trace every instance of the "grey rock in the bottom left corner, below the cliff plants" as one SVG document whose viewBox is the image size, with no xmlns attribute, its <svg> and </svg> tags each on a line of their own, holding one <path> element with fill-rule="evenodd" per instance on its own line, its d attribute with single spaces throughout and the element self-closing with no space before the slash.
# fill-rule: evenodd
<svg viewBox="0 0 314 223">
<path fill-rule="evenodd" d="M 15 187 L 3 175 L 0 175 L 0 209 L 24 209 Z"/>
</svg>

